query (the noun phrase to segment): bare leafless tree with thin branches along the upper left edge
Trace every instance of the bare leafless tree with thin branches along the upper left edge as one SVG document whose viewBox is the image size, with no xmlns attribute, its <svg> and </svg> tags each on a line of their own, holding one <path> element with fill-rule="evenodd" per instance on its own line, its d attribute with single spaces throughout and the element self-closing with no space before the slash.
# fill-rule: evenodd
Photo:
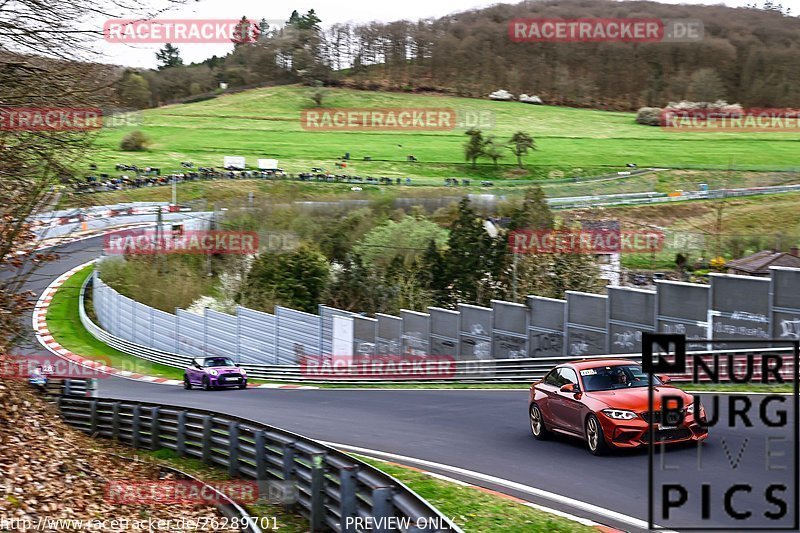
<svg viewBox="0 0 800 533">
<path fill-rule="evenodd" d="M 167 0 L 159 8 L 125 0 L 0 2 L 0 108 L 99 111 L 113 104 L 114 73 L 122 72 L 97 62 L 100 26 L 110 18 L 147 19 L 178 3 Z M 0 127 L 0 352 L 20 340 L 19 317 L 32 303 L 22 288 L 52 257 L 32 249 L 30 217 L 50 205 L 57 187 L 85 164 L 94 127 L 101 125 L 86 123 L 73 131 L 10 122 Z"/>
</svg>

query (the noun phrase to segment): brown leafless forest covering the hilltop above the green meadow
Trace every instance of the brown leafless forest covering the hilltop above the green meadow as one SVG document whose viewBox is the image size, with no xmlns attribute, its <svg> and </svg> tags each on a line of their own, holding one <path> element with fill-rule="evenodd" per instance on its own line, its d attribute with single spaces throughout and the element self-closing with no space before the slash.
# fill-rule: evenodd
<svg viewBox="0 0 800 533">
<path fill-rule="evenodd" d="M 512 42 L 509 22 L 535 17 L 699 19 L 705 32 L 691 43 Z M 684 99 L 800 106 L 800 20 L 770 3 L 528 1 L 417 22 L 325 24 L 310 10 L 281 27 L 260 24 L 259 39 L 199 64 L 184 65 L 175 47 L 162 50 L 158 70 L 124 72 L 120 98 L 149 107 L 213 97 L 220 82 L 229 90 L 304 82 L 467 97 L 503 88 L 614 110 Z"/>
</svg>

